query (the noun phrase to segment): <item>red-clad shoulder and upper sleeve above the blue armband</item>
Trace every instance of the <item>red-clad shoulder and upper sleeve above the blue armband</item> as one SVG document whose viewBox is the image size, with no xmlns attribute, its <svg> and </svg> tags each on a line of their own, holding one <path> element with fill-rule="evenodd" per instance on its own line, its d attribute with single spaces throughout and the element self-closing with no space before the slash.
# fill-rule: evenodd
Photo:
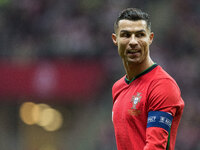
<svg viewBox="0 0 200 150">
<path fill-rule="evenodd" d="M 149 111 L 166 111 L 173 116 L 177 110 L 183 109 L 184 102 L 181 92 L 172 78 L 158 78 L 151 82 L 148 89 Z"/>
</svg>

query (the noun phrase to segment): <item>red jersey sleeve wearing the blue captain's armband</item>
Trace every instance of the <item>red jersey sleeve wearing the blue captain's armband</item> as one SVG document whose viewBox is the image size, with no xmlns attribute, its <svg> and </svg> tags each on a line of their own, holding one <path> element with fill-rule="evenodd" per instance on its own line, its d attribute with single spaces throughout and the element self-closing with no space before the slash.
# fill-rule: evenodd
<svg viewBox="0 0 200 150">
<path fill-rule="evenodd" d="M 180 90 L 173 80 L 160 79 L 151 83 L 148 95 L 144 150 L 166 150 L 173 117 L 179 109 Z"/>
</svg>

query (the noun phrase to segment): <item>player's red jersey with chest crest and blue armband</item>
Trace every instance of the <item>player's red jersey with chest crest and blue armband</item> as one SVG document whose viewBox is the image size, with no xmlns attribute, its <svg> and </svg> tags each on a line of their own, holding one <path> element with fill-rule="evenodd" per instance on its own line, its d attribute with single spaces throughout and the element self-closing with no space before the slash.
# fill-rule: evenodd
<svg viewBox="0 0 200 150">
<path fill-rule="evenodd" d="M 118 150 L 174 150 L 184 102 L 178 85 L 154 64 L 112 89 L 112 119 Z"/>
</svg>

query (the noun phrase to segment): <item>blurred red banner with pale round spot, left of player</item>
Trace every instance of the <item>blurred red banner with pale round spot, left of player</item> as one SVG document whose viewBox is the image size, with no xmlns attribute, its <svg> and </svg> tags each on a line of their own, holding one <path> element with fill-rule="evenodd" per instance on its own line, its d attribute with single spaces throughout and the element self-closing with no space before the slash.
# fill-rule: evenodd
<svg viewBox="0 0 200 150">
<path fill-rule="evenodd" d="M 0 97 L 87 99 L 104 84 L 104 69 L 96 61 L 0 62 Z"/>
</svg>

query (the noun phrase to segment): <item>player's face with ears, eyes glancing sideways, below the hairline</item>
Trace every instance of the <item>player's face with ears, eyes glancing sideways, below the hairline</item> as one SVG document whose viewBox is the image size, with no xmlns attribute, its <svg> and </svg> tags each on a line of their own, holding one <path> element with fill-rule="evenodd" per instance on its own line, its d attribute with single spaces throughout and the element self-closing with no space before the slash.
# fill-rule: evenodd
<svg viewBox="0 0 200 150">
<path fill-rule="evenodd" d="M 153 33 L 144 20 L 120 20 L 116 34 L 112 35 L 120 57 L 127 63 L 142 63 L 149 57 Z"/>
</svg>

